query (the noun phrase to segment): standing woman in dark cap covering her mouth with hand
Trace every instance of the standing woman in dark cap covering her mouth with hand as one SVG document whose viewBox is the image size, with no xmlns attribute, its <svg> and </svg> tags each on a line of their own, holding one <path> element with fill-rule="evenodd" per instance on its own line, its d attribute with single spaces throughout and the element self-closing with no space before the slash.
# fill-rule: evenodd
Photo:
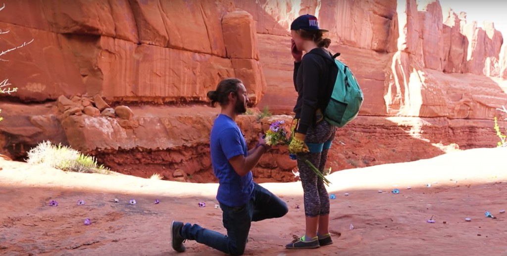
<svg viewBox="0 0 507 256">
<path fill-rule="evenodd" d="M 304 191 L 306 231 L 286 248 L 318 248 L 333 243 L 329 233 L 330 201 L 322 179 L 302 160 L 308 159 L 323 173 L 336 127 L 323 120 L 338 69 L 328 50 L 331 39 L 323 37 L 315 16 L 302 15 L 291 24 L 294 86 L 298 99 L 294 112 L 295 130 L 289 152 L 298 155 Z M 305 55 L 303 56 L 303 52 Z"/>
</svg>

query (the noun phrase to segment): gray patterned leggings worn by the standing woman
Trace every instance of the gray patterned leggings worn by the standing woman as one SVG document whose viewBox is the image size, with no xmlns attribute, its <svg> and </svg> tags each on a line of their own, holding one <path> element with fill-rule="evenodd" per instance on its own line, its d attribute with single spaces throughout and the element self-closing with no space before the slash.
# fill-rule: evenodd
<svg viewBox="0 0 507 256">
<path fill-rule="evenodd" d="M 305 143 L 310 148 L 310 153 L 298 154 L 299 177 L 303 185 L 306 217 L 329 215 L 329 194 L 324 182 L 301 158 L 306 157 L 315 167 L 318 167 L 321 173 L 324 173 L 335 134 L 335 126 L 325 120 L 320 121 L 316 127 L 310 127 L 306 133 Z"/>
</svg>

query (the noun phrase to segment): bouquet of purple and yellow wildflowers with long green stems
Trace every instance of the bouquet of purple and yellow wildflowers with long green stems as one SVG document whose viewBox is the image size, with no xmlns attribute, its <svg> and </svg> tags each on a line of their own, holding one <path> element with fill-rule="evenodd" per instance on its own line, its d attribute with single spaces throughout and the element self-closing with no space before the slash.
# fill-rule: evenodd
<svg viewBox="0 0 507 256">
<path fill-rule="evenodd" d="M 288 136 L 287 138 L 287 132 L 285 132 L 285 129 L 283 127 L 284 124 L 285 124 L 284 120 L 279 120 L 275 121 L 269 126 L 269 130 L 266 132 L 265 138 L 266 144 L 268 144 L 268 146 L 273 145 L 288 146 L 289 144 L 291 144 L 292 137 Z M 293 160 L 297 159 L 297 156 L 295 154 L 289 154 L 289 157 L 291 157 L 291 159 Z M 322 181 L 324 181 L 325 185 L 329 186 L 329 184 L 331 184 L 331 182 L 328 179 L 326 179 L 325 176 L 317 169 L 317 167 L 315 167 L 315 165 L 313 165 L 308 159 L 303 158 L 302 160 L 313 170 L 313 172 L 317 175 L 317 177 L 319 177 L 320 179 L 322 179 Z"/>
</svg>

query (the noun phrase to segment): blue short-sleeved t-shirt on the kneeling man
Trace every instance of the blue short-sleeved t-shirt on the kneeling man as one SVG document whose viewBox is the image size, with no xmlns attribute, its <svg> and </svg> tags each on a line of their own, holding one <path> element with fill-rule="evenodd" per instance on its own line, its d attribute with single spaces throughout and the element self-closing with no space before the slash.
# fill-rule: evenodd
<svg viewBox="0 0 507 256">
<path fill-rule="evenodd" d="M 250 200 L 253 192 L 252 172 L 239 176 L 229 159 L 237 155 L 248 155 L 245 138 L 238 125 L 227 115 L 216 117 L 210 136 L 211 163 L 219 190 L 216 200 L 228 206 L 240 206 Z"/>
</svg>

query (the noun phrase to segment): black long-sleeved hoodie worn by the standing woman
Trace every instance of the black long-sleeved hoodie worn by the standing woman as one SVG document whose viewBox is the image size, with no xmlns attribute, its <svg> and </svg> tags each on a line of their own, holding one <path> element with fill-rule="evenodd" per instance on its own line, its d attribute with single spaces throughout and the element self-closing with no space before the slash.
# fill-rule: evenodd
<svg viewBox="0 0 507 256">
<path fill-rule="evenodd" d="M 294 107 L 295 118 L 299 118 L 298 133 L 306 134 L 314 126 L 315 111 L 322 113 L 328 105 L 338 74 L 338 67 L 331 54 L 323 48 L 315 48 L 294 63 L 294 88 L 298 100 Z"/>
</svg>

